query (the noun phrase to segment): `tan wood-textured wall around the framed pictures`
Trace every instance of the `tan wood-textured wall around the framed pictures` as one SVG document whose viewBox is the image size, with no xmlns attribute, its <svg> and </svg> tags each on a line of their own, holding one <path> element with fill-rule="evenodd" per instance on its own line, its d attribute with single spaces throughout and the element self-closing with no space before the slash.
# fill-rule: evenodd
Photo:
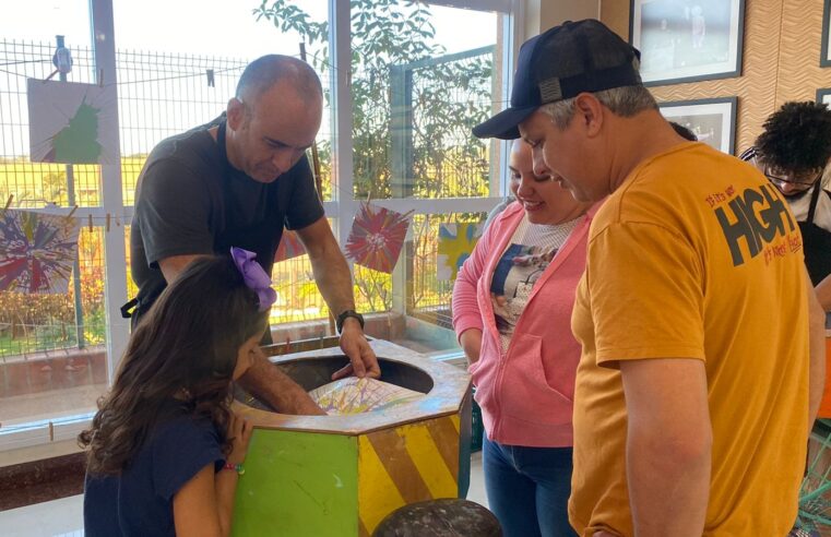
<svg viewBox="0 0 831 537">
<path fill-rule="evenodd" d="M 750 146 L 764 119 L 788 100 L 814 100 L 831 87 L 819 67 L 822 0 L 745 0 L 741 76 L 651 87 L 658 102 L 738 97 L 736 151 Z M 601 20 L 629 38 L 629 0 L 601 0 Z"/>
</svg>

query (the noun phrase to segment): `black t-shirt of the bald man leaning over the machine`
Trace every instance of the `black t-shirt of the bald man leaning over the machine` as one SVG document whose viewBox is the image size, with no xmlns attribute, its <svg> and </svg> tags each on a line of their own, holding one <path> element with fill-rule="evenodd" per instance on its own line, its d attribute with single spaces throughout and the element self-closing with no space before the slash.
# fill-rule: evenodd
<svg viewBox="0 0 831 537">
<path fill-rule="evenodd" d="M 207 131 L 223 118 L 162 141 L 139 176 L 130 236 L 132 277 L 140 288 L 163 282 L 158 261 L 173 255 L 227 253 L 215 251 L 229 229 L 283 223 L 301 229 L 323 216 L 309 162 L 304 156 L 271 183 L 258 182 L 233 168 Z M 280 242 L 283 225 L 264 224 Z M 249 234 L 234 246 L 258 251 Z M 254 234 L 250 234 L 252 237 Z M 259 248 L 262 250 L 262 247 Z M 263 259 L 265 258 L 265 259 Z M 274 251 L 258 252 L 271 274 Z"/>
</svg>

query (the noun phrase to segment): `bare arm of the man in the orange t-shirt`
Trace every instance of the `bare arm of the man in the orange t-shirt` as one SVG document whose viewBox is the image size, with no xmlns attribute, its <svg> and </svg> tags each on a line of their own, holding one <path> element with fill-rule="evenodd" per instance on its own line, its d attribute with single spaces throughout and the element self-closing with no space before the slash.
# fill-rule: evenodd
<svg viewBox="0 0 831 537">
<path fill-rule="evenodd" d="M 704 363 L 651 358 L 621 360 L 619 367 L 634 535 L 700 537 L 713 443 Z"/>
</svg>

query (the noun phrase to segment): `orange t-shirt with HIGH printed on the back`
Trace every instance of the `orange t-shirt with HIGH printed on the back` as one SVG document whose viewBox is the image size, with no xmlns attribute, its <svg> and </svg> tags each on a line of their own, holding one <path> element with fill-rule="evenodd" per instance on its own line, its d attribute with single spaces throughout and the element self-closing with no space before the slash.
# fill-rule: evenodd
<svg viewBox="0 0 831 537">
<path fill-rule="evenodd" d="M 617 362 L 692 358 L 704 362 L 713 430 L 704 535 L 787 534 L 808 437 L 804 272 L 776 189 L 704 144 L 641 163 L 606 200 L 572 317 L 579 533 L 633 533 Z"/>
</svg>

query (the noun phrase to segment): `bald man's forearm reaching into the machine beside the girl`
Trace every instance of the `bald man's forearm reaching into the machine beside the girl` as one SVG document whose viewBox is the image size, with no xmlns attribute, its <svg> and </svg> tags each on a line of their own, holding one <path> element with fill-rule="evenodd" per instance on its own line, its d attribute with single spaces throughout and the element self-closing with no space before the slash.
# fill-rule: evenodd
<svg viewBox="0 0 831 537">
<path fill-rule="evenodd" d="M 264 401 L 276 411 L 297 415 L 324 415 L 308 393 L 268 358 L 254 359 L 253 366 L 239 383 L 254 397 Z"/>
</svg>

